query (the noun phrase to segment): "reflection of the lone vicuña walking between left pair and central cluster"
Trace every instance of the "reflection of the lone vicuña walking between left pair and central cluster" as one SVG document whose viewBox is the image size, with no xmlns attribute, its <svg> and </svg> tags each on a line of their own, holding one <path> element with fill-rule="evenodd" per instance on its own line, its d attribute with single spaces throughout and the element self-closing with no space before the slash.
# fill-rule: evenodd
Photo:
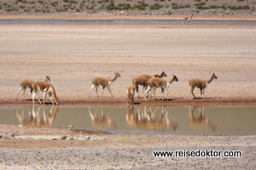
<svg viewBox="0 0 256 170">
<path fill-rule="evenodd" d="M 96 127 L 96 128 L 113 127 L 116 131 L 118 131 L 119 128 L 109 118 L 109 114 L 111 114 L 113 112 L 113 109 L 111 111 L 109 111 L 108 114 L 106 115 L 106 114 L 104 114 L 103 109 L 101 108 L 101 111 L 102 111 L 101 116 L 98 116 L 99 108 L 96 108 L 96 111 L 94 114 L 90 111 L 90 108 L 88 108 L 88 109 L 89 109 L 90 119 L 91 119 L 93 127 Z"/>
</svg>

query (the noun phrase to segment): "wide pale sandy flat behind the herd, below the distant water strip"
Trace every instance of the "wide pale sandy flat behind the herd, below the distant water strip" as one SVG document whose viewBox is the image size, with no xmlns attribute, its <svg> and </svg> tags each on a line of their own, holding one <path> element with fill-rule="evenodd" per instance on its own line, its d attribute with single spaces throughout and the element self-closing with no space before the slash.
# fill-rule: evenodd
<svg viewBox="0 0 256 170">
<path fill-rule="evenodd" d="M 213 72 L 218 80 L 206 89 L 209 102 L 255 103 L 255 26 L 3 25 L 0 37 L 1 104 L 17 102 L 21 79 L 45 75 L 62 104 L 124 102 L 133 77 L 161 71 L 166 80 L 179 80 L 169 88 L 169 99 L 175 99 L 170 105 L 191 101 L 189 80 L 208 80 Z M 106 90 L 103 98 L 93 92 L 88 99 L 91 79 L 112 78 L 115 71 L 122 76 L 111 87 L 115 98 Z"/>
</svg>

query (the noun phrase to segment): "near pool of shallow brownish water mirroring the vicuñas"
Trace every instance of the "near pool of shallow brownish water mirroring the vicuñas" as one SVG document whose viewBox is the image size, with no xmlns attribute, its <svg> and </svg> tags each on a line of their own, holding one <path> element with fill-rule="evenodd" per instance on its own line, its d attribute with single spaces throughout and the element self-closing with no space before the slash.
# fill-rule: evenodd
<svg viewBox="0 0 256 170">
<path fill-rule="evenodd" d="M 255 135 L 256 107 L 0 108 L 0 123 L 110 133 Z"/>
</svg>

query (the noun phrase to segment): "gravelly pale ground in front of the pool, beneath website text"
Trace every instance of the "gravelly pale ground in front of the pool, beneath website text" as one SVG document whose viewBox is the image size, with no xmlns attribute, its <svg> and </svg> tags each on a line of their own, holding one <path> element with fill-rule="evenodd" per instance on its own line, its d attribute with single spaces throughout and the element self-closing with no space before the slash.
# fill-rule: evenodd
<svg viewBox="0 0 256 170">
<path fill-rule="evenodd" d="M 56 129 L 0 125 L 0 133 Z M 3 128 L 5 130 L 3 130 Z M 58 129 L 58 135 L 75 135 Z M 95 134 L 90 134 L 93 136 Z M 255 169 L 255 136 L 108 135 L 98 141 L 0 139 L 1 169 Z M 154 157 L 154 150 L 241 150 L 241 157 Z"/>
</svg>

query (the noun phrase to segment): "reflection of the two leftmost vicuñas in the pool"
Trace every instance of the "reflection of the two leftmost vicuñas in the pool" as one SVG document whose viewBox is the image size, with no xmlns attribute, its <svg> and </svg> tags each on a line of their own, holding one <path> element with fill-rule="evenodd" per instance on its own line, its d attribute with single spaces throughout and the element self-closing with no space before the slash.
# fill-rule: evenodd
<svg viewBox="0 0 256 170">
<path fill-rule="evenodd" d="M 27 109 L 28 115 L 29 115 L 28 118 L 26 118 L 25 116 L 25 109 L 22 110 L 21 114 L 18 112 L 18 110 L 16 110 L 16 115 L 20 122 L 20 125 L 25 127 L 51 127 L 53 122 L 55 121 L 55 116 L 60 109 L 57 106 L 53 113 L 53 110 L 54 110 L 54 105 L 53 105 L 51 107 L 51 110 L 47 114 L 43 106 L 43 117 L 40 117 L 41 107 L 42 106 L 40 105 L 37 111 L 35 111 L 35 107 L 33 106 L 32 112 L 29 109 Z"/>
</svg>

